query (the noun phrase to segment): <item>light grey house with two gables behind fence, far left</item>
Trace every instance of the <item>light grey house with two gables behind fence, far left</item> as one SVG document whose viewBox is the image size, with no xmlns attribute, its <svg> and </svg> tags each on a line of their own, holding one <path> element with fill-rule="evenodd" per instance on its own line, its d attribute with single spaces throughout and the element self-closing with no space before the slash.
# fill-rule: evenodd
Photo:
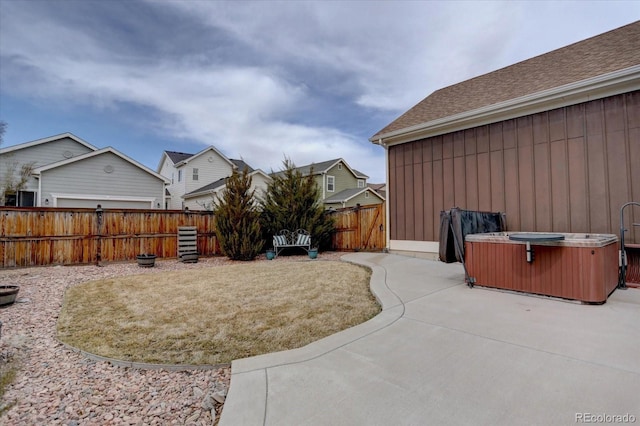
<svg viewBox="0 0 640 426">
<path fill-rule="evenodd" d="M 155 209 L 164 205 L 162 176 L 107 147 L 98 149 L 71 133 L 0 149 L 0 179 L 27 167 L 29 178 L 4 205 Z"/>
</svg>

